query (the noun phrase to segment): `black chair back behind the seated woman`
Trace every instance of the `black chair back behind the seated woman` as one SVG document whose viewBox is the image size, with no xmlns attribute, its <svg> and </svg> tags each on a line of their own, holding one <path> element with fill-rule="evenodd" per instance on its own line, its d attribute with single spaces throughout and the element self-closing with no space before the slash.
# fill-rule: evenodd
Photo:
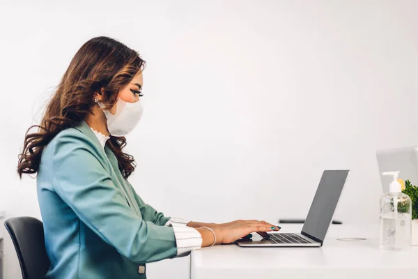
<svg viewBox="0 0 418 279">
<path fill-rule="evenodd" d="M 23 279 L 45 278 L 50 262 L 42 222 L 33 217 L 16 217 L 4 225 L 15 246 Z"/>
</svg>

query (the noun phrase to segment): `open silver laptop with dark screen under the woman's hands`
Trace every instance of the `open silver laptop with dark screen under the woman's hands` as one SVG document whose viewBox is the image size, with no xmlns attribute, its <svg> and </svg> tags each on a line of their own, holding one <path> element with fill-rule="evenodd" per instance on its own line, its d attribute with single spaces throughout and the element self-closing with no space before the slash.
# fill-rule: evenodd
<svg viewBox="0 0 418 279">
<path fill-rule="evenodd" d="M 349 170 L 325 170 L 300 233 L 270 232 L 268 239 L 240 239 L 241 247 L 320 247 L 330 227 Z"/>
</svg>

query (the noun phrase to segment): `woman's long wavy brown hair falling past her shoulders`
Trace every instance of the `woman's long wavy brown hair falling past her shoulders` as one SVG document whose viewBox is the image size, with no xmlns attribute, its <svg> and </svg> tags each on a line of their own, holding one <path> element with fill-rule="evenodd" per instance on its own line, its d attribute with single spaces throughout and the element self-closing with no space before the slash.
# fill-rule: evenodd
<svg viewBox="0 0 418 279">
<path fill-rule="evenodd" d="M 103 88 L 107 108 L 112 107 L 118 92 L 144 67 L 145 61 L 138 52 L 113 38 L 101 36 L 84 43 L 49 100 L 40 125 L 31 126 L 26 132 L 17 165 L 20 178 L 22 174 L 38 172 L 43 149 L 61 130 L 76 126 L 93 113 L 96 92 Z M 36 132 L 31 133 L 33 128 Z M 118 159 L 123 176 L 130 176 L 135 163 L 131 155 L 122 151 L 125 137 L 110 136 L 106 144 Z"/>
</svg>

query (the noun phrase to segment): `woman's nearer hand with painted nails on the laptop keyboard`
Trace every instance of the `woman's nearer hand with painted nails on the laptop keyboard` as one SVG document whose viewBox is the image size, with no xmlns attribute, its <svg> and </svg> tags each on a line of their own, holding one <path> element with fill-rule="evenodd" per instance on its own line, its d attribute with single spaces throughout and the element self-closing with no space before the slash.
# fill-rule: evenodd
<svg viewBox="0 0 418 279">
<path fill-rule="evenodd" d="M 219 224 L 213 227 L 217 243 L 232 243 L 251 232 L 278 231 L 279 227 L 265 221 L 258 220 L 235 220 L 233 222 Z"/>
</svg>

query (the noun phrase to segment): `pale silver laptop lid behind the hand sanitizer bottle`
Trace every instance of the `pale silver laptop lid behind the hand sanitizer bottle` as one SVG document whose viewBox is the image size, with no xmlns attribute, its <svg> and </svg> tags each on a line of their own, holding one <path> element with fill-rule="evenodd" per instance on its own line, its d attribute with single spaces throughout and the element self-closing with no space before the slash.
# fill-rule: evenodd
<svg viewBox="0 0 418 279">
<path fill-rule="evenodd" d="M 379 150 L 376 151 L 376 158 L 378 159 L 383 193 L 389 192 L 389 184 L 393 177 L 382 175 L 382 172 L 399 172 L 398 179 L 409 180 L 413 185 L 418 184 L 417 146 Z"/>
</svg>

